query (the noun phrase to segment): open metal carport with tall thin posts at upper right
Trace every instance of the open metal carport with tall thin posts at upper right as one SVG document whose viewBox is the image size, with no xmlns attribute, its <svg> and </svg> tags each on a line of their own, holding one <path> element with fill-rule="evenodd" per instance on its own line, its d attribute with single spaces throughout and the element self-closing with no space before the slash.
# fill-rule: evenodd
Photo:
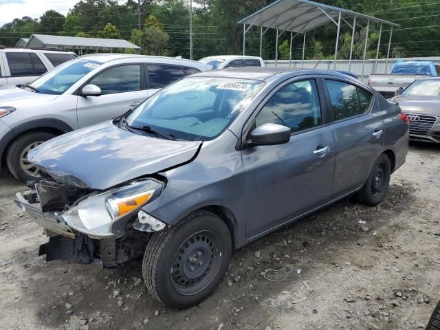
<svg viewBox="0 0 440 330">
<path fill-rule="evenodd" d="M 293 34 L 304 34 L 304 45 L 305 45 L 305 35 L 311 30 L 319 28 L 321 25 L 327 23 L 334 23 L 338 27 L 337 40 L 336 40 L 336 52 L 335 52 L 335 66 L 336 57 L 338 52 L 338 39 L 340 33 L 341 21 L 347 23 L 353 29 L 353 36 L 355 32 L 356 19 L 366 21 L 366 34 L 368 36 L 370 22 L 380 23 L 380 34 L 382 34 L 382 25 L 390 25 L 391 33 L 393 32 L 393 27 L 399 26 L 399 24 L 392 23 L 389 21 L 384 21 L 383 19 L 377 19 L 366 14 L 361 14 L 360 12 L 353 12 L 352 10 L 347 10 L 344 8 L 334 7 L 333 5 L 325 5 L 323 3 L 318 3 L 309 0 L 276 0 L 270 5 L 265 6 L 261 10 L 254 12 L 248 17 L 241 19 L 238 23 L 243 24 L 243 55 L 245 54 L 245 34 L 248 32 L 252 26 L 261 27 L 261 43 L 263 39 L 263 34 L 267 32 L 270 28 L 276 29 L 276 39 L 278 46 L 278 31 L 291 32 L 291 58 L 292 58 L 292 39 Z M 246 26 L 248 25 L 248 27 Z M 263 28 L 265 30 L 263 31 Z M 352 38 L 353 40 L 353 38 Z M 379 41 L 380 43 L 380 41 Z M 390 36 L 391 44 L 391 36 Z M 352 51 L 353 43 L 351 45 Z M 278 47 L 276 47 L 276 60 L 278 55 Z M 260 44 L 260 56 L 262 47 Z M 377 52 L 378 53 L 378 52 Z M 364 54 L 365 55 L 365 54 Z M 389 56 L 389 47 L 388 47 Z M 304 60 L 304 47 L 303 47 L 303 60 Z M 351 60 L 351 56 L 350 56 Z"/>
</svg>

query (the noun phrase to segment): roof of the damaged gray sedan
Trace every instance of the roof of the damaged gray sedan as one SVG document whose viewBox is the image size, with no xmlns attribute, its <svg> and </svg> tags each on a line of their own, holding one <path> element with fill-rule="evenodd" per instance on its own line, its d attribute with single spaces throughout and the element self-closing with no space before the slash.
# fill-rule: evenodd
<svg viewBox="0 0 440 330">
<path fill-rule="evenodd" d="M 341 74 L 339 72 L 335 72 L 331 70 L 320 70 L 320 69 L 309 69 L 309 68 L 298 68 L 298 67 L 234 67 L 231 69 L 200 72 L 192 76 L 270 80 L 274 76 L 277 77 L 286 76 L 286 78 L 289 78 L 294 76 L 302 76 L 305 74 L 311 74 L 311 75 L 326 74 L 338 78 L 354 79 L 351 78 L 350 76 L 347 76 L 347 74 Z"/>
</svg>

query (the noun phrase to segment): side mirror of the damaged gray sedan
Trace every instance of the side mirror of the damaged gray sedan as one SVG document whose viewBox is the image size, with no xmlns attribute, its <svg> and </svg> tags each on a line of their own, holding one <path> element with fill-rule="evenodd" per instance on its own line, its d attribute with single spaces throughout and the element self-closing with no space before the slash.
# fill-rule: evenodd
<svg viewBox="0 0 440 330">
<path fill-rule="evenodd" d="M 272 146 L 290 141 L 291 130 L 279 124 L 263 124 L 250 132 L 250 144 L 256 146 Z"/>
</svg>

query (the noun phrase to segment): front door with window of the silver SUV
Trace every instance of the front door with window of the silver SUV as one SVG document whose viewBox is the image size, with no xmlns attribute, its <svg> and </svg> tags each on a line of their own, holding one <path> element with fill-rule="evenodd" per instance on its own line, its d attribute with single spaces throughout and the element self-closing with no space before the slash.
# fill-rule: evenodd
<svg viewBox="0 0 440 330">
<path fill-rule="evenodd" d="M 102 95 L 77 96 L 80 128 L 122 115 L 148 98 L 142 64 L 109 67 L 87 84 L 100 87 Z"/>
</svg>

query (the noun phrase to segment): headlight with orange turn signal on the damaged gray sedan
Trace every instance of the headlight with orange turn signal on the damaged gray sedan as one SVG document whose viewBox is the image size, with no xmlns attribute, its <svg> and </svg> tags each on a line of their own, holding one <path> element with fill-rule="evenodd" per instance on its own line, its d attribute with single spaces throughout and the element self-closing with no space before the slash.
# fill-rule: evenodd
<svg viewBox="0 0 440 330">
<path fill-rule="evenodd" d="M 92 238 L 115 237 L 123 234 L 118 220 L 150 203 L 164 190 L 155 179 L 133 181 L 127 186 L 101 192 L 80 201 L 63 215 L 67 225 Z"/>
</svg>

